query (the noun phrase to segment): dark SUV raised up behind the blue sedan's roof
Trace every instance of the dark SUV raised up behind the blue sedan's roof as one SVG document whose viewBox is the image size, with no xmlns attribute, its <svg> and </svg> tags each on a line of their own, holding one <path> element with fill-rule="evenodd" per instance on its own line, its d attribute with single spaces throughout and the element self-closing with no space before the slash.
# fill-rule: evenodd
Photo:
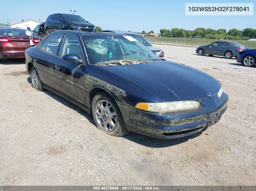
<svg viewBox="0 0 256 191">
<path fill-rule="evenodd" d="M 56 30 L 80 30 L 96 33 L 95 25 L 75 14 L 51 14 L 45 21 L 45 33 L 48 35 Z"/>
</svg>

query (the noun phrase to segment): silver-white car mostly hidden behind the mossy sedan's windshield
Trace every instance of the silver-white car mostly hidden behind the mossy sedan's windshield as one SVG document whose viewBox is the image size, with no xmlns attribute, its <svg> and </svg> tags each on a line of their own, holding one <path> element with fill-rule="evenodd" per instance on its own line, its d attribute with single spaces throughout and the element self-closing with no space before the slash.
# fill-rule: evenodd
<svg viewBox="0 0 256 191">
<path fill-rule="evenodd" d="M 145 46 L 147 46 L 151 51 L 154 51 L 156 56 L 158 56 L 161 59 L 165 59 L 164 58 L 165 52 L 162 49 L 152 46 L 144 37 L 142 37 L 136 33 L 131 33 L 131 32 L 123 31 L 123 30 L 102 30 L 101 33 L 102 32 L 121 33 L 121 34 L 129 35 L 129 36 L 135 38 L 136 40 L 138 40 L 139 42 L 141 42 L 142 44 L 144 44 Z"/>
</svg>

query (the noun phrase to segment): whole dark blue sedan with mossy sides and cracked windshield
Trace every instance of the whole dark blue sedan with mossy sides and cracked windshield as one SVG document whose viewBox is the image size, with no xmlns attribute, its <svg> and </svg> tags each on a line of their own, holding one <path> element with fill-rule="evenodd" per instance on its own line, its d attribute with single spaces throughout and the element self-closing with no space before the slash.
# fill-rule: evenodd
<svg viewBox="0 0 256 191">
<path fill-rule="evenodd" d="M 33 88 L 81 107 L 109 135 L 184 137 L 214 125 L 227 109 L 218 80 L 160 59 L 124 34 L 60 30 L 25 57 Z"/>
</svg>

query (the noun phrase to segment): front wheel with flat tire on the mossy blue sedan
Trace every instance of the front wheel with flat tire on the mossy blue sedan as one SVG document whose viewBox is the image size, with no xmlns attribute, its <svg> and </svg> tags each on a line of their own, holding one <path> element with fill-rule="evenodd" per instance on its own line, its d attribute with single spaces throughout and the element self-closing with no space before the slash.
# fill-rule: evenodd
<svg viewBox="0 0 256 191">
<path fill-rule="evenodd" d="M 105 133 L 122 137 L 129 131 L 113 97 L 107 92 L 98 92 L 92 100 L 91 111 L 96 127 Z"/>
</svg>

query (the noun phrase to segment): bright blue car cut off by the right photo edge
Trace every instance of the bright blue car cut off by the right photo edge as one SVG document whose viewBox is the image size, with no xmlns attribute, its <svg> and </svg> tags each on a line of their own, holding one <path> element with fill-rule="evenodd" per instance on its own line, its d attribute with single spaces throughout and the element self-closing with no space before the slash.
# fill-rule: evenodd
<svg viewBox="0 0 256 191">
<path fill-rule="evenodd" d="M 255 65 L 256 49 L 243 50 L 238 54 L 237 62 L 244 66 L 252 67 Z"/>
</svg>

